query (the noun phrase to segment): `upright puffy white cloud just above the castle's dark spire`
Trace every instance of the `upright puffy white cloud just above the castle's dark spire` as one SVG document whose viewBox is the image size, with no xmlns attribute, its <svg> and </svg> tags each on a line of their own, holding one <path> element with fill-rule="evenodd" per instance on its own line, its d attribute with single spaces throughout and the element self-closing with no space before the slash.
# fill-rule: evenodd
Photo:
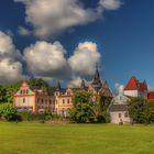
<svg viewBox="0 0 154 154">
<path fill-rule="evenodd" d="M 96 63 L 99 63 L 100 57 L 96 43 L 84 42 L 78 44 L 68 63 L 75 76 L 89 76 L 94 75 Z"/>
</svg>

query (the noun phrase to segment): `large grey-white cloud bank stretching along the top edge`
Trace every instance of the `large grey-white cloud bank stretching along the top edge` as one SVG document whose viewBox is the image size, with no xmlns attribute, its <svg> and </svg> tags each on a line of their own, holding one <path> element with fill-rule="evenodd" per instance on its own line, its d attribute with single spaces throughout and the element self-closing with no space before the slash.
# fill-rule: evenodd
<svg viewBox="0 0 154 154">
<path fill-rule="evenodd" d="M 25 21 L 34 28 L 34 33 L 41 37 L 94 22 L 102 16 L 103 10 L 120 8 L 120 0 L 100 0 L 97 8 L 86 8 L 79 0 L 14 1 L 25 6 Z"/>
</svg>

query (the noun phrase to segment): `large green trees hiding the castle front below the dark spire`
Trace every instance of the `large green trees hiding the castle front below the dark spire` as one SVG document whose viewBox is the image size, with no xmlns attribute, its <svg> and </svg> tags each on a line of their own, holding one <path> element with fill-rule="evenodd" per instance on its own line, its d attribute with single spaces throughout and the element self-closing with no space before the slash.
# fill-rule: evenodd
<svg viewBox="0 0 154 154">
<path fill-rule="evenodd" d="M 74 108 L 70 110 L 70 120 L 74 122 L 109 122 L 107 112 L 108 99 L 101 97 L 94 102 L 94 97 L 87 91 L 76 91 L 74 94 Z"/>
</svg>

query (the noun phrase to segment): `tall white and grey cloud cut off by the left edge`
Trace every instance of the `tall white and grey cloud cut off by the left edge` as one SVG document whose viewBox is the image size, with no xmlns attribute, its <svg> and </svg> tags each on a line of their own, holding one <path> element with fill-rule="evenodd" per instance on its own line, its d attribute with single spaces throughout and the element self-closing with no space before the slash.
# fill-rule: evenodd
<svg viewBox="0 0 154 154">
<path fill-rule="evenodd" d="M 23 78 L 22 56 L 10 35 L 0 31 L 0 82 L 11 82 Z"/>
</svg>

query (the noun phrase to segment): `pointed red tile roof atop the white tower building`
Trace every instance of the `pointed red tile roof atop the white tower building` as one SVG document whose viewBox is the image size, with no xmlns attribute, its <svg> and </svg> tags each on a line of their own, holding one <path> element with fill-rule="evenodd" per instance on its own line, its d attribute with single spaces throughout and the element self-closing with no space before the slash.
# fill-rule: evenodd
<svg viewBox="0 0 154 154">
<path fill-rule="evenodd" d="M 145 81 L 140 82 L 134 76 L 131 77 L 124 90 L 147 90 L 147 85 Z"/>
</svg>

